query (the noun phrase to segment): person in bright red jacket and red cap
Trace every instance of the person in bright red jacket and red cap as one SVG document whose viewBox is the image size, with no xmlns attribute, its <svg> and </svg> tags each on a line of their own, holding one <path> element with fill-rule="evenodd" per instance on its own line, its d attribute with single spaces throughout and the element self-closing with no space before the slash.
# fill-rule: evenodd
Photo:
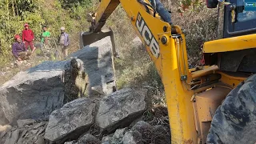
<svg viewBox="0 0 256 144">
<path fill-rule="evenodd" d="M 25 43 L 25 49 L 28 49 L 28 46 L 30 46 L 30 49 L 32 50 L 32 53 L 35 50 L 34 47 L 34 33 L 32 30 L 29 29 L 29 25 L 26 23 L 24 25 L 25 29 L 22 31 L 22 41 Z"/>
</svg>

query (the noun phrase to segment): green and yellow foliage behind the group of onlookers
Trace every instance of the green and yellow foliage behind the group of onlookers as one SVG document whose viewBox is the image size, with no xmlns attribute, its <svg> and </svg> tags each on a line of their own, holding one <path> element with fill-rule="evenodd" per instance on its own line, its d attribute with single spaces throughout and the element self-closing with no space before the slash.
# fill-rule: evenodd
<svg viewBox="0 0 256 144">
<path fill-rule="evenodd" d="M 62 4 L 70 2 L 70 10 L 62 8 Z M 82 4 L 82 5 L 81 5 Z M 90 0 L 62 1 L 62 0 L 4 0 L 0 2 L 0 67 L 13 60 L 11 45 L 14 34 L 22 34 L 23 25 L 28 23 L 34 31 L 35 42 L 40 41 L 42 26 L 47 26 L 56 42 L 59 28 L 66 27 L 70 34 L 71 51 L 77 50 L 78 32 L 88 27 L 85 20 L 86 13 L 91 10 Z"/>
</svg>

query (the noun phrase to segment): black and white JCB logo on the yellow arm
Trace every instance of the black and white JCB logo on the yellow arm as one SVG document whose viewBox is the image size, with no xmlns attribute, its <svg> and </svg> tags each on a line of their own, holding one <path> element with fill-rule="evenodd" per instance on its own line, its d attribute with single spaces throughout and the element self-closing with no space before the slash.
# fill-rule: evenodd
<svg viewBox="0 0 256 144">
<path fill-rule="evenodd" d="M 154 35 L 151 33 L 149 27 L 146 25 L 146 22 L 139 13 L 136 20 L 136 26 L 142 35 L 142 38 L 144 38 L 146 45 L 150 46 L 151 53 L 155 58 L 158 58 L 160 53 L 158 42 L 155 40 Z"/>
</svg>

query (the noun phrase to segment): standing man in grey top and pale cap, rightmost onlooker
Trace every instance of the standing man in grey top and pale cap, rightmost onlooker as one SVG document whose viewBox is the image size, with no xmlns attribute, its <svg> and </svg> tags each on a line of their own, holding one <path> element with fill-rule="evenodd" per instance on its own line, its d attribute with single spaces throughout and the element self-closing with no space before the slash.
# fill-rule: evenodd
<svg viewBox="0 0 256 144">
<path fill-rule="evenodd" d="M 67 48 L 70 46 L 70 35 L 66 34 L 65 27 L 61 27 L 61 35 L 59 38 L 59 44 L 62 48 L 62 58 L 66 58 L 68 55 Z"/>
</svg>

